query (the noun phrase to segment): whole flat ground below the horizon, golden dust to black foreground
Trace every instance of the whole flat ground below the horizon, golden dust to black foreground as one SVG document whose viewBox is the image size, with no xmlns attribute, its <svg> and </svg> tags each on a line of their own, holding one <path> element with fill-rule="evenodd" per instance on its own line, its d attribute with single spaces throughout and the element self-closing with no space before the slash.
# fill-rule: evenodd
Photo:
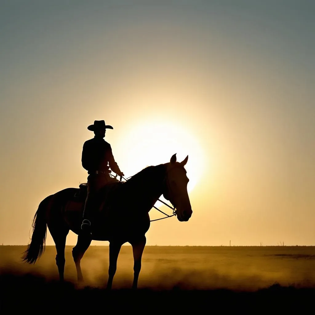
<svg viewBox="0 0 315 315">
<path fill-rule="evenodd" d="M 107 301 L 108 305 L 126 309 L 135 301 L 140 305 L 153 303 L 154 307 L 161 308 L 168 301 L 174 309 L 180 303 L 185 310 L 187 307 L 208 307 L 209 303 L 213 307 L 234 305 L 243 309 L 253 303 L 263 307 L 271 302 L 279 307 L 297 306 L 300 309 L 315 299 L 315 247 L 146 246 L 139 290 L 133 292 L 129 289 L 133 278 L 132 249 L 123 246 L 110 293 L 104 290 L 108 271 L 107 246 L 91 246 L 87 250 L 81 262 L 86 281 L 81 286 L 76 284 L 72 247 L 67 246 L 66 284 L 62 287 L 56 281 L 55 248 L 47 246 L 35 265 L 21 262 L 25 249 L 26 246 L 0 246 L 0 285 L 5 291 L 2 307 L 19 307 L 21 304 L 12 301 L 23 301 L 23 298 L 31 301 L 36 297 L 37 303 L 44 306 L 47 303 L 57 306 L 62 301 L 62 305 L 74 308 L 83 300 L 89 307 Z M 46 293 L 43 295 L 43 292 Z"/>
</svg>

